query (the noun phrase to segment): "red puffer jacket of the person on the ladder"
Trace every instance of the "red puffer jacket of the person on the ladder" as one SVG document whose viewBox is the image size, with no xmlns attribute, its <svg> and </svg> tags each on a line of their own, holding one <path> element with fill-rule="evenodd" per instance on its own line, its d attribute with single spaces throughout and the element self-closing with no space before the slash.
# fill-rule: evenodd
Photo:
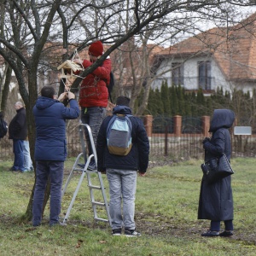
<svg viewBox="0 0 256 256">
<path fill-rule="evenodd" d="M 83 61 L 84 68 L 90 67 L 93 63 Z M 108 88 L 111 72 L 111 61 L 106 59 L 102 66 L 97 67 L 93 73 L 86 76 L 81 84 L 79 92 L 79 105 L 84 108 L 108 106 Z"/>
</svg>

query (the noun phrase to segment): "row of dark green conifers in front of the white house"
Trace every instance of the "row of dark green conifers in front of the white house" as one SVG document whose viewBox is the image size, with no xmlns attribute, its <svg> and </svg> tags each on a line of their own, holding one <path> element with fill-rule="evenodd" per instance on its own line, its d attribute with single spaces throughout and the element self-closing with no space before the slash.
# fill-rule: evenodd
<svg viewBox="0 0 256 256">
<path fill-rule="evenodd" d="M 249 92 L 234 90 L 232 97 L 229 91 L 222 88 L 211 96 L 204 96 L 202 90 L 185 91 L 180 86 L 169 87 L 166 92 L 166 83 L 163 83 L 161 90 L 150 90 L 150 101 L 148 102 L 147 113 L 151 113 L 154 118 L 162 116 L 165 113 L 166 118 L 174 115 L 184 117 L 201 117 L 203 115 L 211 116 L 214 109 L 229 108 L 236 113 L 236 125 L 252 126 L 253 132 L 256 132 L 256 96 L 253 90 L 253 96 Z M 168 95 L 166 95 L 166 93 Z M 166 99 L 170 99 L 171 112 L 166 113 L 166 108 L 160 108 L 160 102 L 164 106 Z M 184 99 L 184 104 L 179 104 Z M 156 108 L 158 106 L 158 108 Z"/>
</svg>

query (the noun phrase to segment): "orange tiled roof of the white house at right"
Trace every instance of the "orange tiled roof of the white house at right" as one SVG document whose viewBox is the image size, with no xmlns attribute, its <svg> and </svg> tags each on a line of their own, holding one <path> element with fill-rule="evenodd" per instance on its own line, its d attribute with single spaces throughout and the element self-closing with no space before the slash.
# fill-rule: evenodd
<svg viewBox="0 0 256 256">
<path fill-rule="evenodd" d="M 236 26 L 215 27 L 160 52 L 191 58 L 212 55 L 227 79 L 256 79 L 256 13 Z M 159 56 L 158 56 L 159 57 Z"/>
</svg>

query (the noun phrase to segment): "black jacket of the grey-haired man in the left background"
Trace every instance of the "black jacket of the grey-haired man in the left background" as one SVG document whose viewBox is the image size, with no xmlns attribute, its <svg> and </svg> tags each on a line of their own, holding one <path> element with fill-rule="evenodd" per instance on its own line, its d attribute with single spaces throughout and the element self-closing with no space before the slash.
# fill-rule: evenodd
<svg viewBox="0 0 256 256">
<path fill-rule="evenodd" d="M 25 140 L 27 137 L 26 109 L 17 110 L 15 117 L 9 123 L 9 139 Z"/>
</svg>

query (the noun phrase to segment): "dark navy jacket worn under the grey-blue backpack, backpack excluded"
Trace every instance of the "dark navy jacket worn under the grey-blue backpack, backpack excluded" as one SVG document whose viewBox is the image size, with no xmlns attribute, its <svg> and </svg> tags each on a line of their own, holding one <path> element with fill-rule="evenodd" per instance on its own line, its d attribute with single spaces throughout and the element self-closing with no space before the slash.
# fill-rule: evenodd
<svg viewBox="0 0 256 256">
<path fill-rule="evenodd" d="M 113 108 L 113 114 L 131 114 L 131 108 L 125 106 L 117 106 Z M 96 153 L 97 168 L 99 172 L 106 171 L 106 168 L 134 170 L 146 172 L 148 168 L 149 143 L 143 121 L 137 117 L 129 117 L 131 119 L 131 151 L 125 156 L 110 154 L 107 145 L 107 128 L 108 122 L 112 116 L 108 116 L 103 120 L 97 137 Z"/>
</svg>

